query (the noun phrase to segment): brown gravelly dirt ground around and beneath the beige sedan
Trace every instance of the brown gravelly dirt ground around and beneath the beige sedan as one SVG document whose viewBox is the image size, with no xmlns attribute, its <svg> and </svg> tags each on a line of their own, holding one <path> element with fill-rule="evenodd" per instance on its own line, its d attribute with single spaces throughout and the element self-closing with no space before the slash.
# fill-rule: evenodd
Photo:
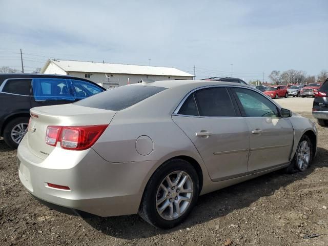
<svg viewBox="0 0 328 246">
<path fill-rule="evenodd" d="M 48 209 L 20 184 L 16 150 L 0 140 L 0 245 L 328 245 L 328 128 L 318 130 L 309 170 L 201 196 L 189 218 L 167 231 L 137 215 L 82 219 Z"/>
</svg>

